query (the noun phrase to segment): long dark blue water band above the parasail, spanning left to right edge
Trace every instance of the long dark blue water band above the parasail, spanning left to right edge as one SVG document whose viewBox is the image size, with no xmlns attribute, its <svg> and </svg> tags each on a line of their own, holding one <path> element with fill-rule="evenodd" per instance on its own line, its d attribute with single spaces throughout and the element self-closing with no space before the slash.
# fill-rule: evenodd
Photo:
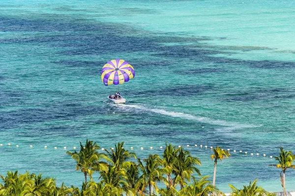
<svg viewBox="0 0 295 196">
<path fill-rule="evenodd" d="M 107 25 L 96 22 L 86 24 L 79 20 L 61 21 L 55 20 L 25 20 L 13 18 L 0 18 L 0 31 L 39 31 L 55 32 L 57 35 L 33 36 L 20 39 L 2 39 L 0 42 L 17 43 L 48 43 L 52 46 L 67 48 L 61 51 L 65 55 L 82 54 L 110 54 L 117 52 L 152 52 L 153 55 L 172 58 L 187 58 L 196 62 L 230 63 L 250 66 L 260 69 L 294 68 L 295 62 L 283 61 L 250 61 L 214 57 L 214 54 L 230 53 L 223 48 L 207 49 L 208 45 L 198 45 L 202 38 L 161 36 L 145 33 L 138 35 L 138 31 L 126 25 Z M 2 25 L 1 25 L 2 24 Z M 65 35 L 58 32 L 67 31 Z M 70 32 L 70 33 L 68 33 Z M 195 43 L 198 47 L 189 46 L 163 46 L 161 43 Z M 72 49 L 69 49 L 72 48 Z M 229 47 L 227 49 L 253 50 L 266 49 L 257 47 Z M 268 49 L 268 48 L 267 48 Z"/>
</svg>

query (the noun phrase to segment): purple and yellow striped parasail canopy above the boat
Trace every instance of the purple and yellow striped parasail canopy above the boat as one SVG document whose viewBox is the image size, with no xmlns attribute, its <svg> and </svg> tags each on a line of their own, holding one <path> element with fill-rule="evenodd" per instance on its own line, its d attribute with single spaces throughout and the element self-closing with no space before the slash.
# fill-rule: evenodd
<svg viewBox="0 0 295 196">
<path fill-rule="evenodd" d="M 106 86 L 123 84 L 134 76 L 134 68 L 122 59 L 107 62 L 101 70 L 101 80 Z"/>
</svg>

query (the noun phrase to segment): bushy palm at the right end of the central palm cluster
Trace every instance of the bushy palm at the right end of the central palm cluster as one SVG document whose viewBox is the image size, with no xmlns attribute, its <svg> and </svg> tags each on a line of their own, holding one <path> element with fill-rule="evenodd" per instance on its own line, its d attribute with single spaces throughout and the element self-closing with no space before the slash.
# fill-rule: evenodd
<svg viewBox="0 0 295 196">
<path fill-rule="evenodd" d="M 180 190 L 183 189 L 185 180 L 190 181 L 192 173 L 196 172 L 201 176 L 200 170 L 196 167 L 197 165 L 201 165 L 201 161 L 181 147 L 173 164 L 174 184 L 179 183 Z"/>
</svg>

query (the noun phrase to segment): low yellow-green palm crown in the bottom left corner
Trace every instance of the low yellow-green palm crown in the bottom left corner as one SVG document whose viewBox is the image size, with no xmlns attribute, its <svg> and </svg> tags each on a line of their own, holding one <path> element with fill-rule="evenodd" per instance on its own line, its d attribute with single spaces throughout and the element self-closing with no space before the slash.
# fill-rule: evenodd
<svg viewBox="0 0 295 196">
<path fill-rule="evenodd" d="M 3 185 L 0 184 L 0 196 L 19 196 L 26 187 L 33 185 L 29 172 L 18 174 L 18 171 L 11 171 L 5 177 L 0 175 L 0 178 L 3 181 Z"/>
</svg>

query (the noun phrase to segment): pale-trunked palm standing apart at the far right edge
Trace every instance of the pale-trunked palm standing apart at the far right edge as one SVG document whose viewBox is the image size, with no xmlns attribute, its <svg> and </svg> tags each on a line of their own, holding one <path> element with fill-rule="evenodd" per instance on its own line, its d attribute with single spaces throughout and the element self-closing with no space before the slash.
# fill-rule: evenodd
<svg viewBox="0 0 295 196">
<path fill-rule="evenodd" d="M 283 176 L 282 176 L 282 172 L 281 172 L 280 177 L 281 177 L 282 187 L 283 187 L 283 191 L 284 191 L 284 196 L 286 196 L 286 170 L 288 168 L 295 169 L 295 165 L 292 165 L 292 163 L 294 161 L 294 155 L 292 154 L 292 151 L 287 151 L 287 150 L 284 151 L 284 148 L 280 147 L 279 156 L 275 156 L 274 158 L 275 158 L 275 160 L 278 161 L 278 164 L 277 165 L 268 165 L 268 166 L 274 166 L 276 168 L 282 169 Z"/>
</svg>

